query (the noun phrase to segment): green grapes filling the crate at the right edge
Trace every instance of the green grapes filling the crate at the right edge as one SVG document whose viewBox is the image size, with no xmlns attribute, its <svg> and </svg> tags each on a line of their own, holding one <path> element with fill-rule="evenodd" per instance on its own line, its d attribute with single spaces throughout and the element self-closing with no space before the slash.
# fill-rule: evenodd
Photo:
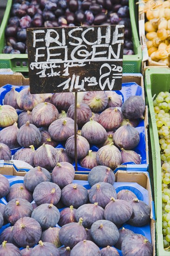
<svg viewBox="0 0 170 256">
<path fill-rule="evenodd" d="M 159 93 L 153 104 L 162 165 L 163 246 L 170 251 L 170 93 Z"/>
</svg>

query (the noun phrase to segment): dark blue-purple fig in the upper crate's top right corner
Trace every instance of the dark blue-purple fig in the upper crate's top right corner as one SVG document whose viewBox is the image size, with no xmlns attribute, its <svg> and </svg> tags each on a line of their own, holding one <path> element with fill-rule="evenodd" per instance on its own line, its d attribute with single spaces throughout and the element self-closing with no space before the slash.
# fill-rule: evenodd
<svg viewBox="0 0 170 256">
<path fill-rule="evenodd" d="M 122 114 L 128 119 L 144 119 L 145 102 L 141 96 L 131 96 L 122 105 Z"/>
</svg>

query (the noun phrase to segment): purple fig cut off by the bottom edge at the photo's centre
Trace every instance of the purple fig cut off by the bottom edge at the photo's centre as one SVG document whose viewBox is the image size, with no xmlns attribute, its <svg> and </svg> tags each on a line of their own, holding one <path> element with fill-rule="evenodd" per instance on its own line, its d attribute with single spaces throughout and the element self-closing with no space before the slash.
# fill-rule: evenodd
<svg viewBox="0 0 170 256">
<path fill-rule="evenodd" d="M 101 256 L 100 249 L 92 241 L 83 240 L 77 243 L 71 250 L 70 256 L 81 255 L 81 256 Z"/>
</svg>

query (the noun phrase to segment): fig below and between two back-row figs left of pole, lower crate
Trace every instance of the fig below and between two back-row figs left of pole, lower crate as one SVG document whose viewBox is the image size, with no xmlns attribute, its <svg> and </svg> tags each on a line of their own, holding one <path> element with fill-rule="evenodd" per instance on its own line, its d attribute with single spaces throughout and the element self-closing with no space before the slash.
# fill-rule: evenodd
<svg viewBox="0 0 170 256">
<path fill-rule="evenodd" d="M 33 191 L 33 200 L 38 204 L 57 204 L 61 197 L 61 189 L 53 182 L 41 182 Z"/>
</svg>

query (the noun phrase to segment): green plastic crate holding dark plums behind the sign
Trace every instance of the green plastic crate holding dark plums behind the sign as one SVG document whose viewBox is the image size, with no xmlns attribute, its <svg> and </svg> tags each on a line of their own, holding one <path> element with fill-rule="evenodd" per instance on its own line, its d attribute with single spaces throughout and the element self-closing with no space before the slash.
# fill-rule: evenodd
<svg viewBox="0 0 170 256">
<path fill-rule="evenodd" d="M 0 68 L 11 68 L 13 72 L 28 72 L 28 55 L 27 54 L 2 54 L 6 45 L 5 28 L 10 17 L 12 0 L 7 1 L 7 8 L 0 26 Z M 132 37 L 135 55 L 124 55 L 123 72 L 124 73 L 141 73 L 142 50 L 138 39 L 134 0 L 129 1 Z M 23 66 L 26 62 L 26 66 Z"/>
</svg>

